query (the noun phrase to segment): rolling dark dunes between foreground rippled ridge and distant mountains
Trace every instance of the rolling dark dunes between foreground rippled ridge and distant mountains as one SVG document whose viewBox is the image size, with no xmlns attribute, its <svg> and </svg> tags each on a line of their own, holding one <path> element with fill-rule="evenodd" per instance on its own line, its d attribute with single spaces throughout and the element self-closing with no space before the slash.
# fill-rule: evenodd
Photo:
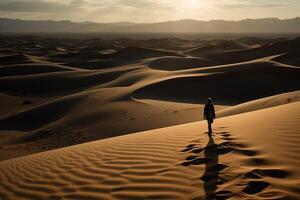
<svg viewBox="0 0 300 200">
<path fill-rule="evenodd" d="M 208 96 L 226 115 L 296 100 L 257 99 L 300 89 L 298 40 L 248 40 L 6 38 L 0 160 L 199 121 Z"/>
</svg>

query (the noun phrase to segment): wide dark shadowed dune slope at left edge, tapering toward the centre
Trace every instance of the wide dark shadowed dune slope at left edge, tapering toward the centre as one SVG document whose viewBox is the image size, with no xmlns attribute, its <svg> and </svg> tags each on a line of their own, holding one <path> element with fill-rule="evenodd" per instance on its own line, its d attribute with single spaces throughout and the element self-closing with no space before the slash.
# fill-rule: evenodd
<svg viewBox="0 0 300 200">
<path fill-rule="evenodd" d="M 71 71 L 28 76 L 0 78 L 0 90 L 5 93 L 26 96 L 56 96 L 82 91 L 113 81 L 121 74 L 130 71 Z"/>
</svg>

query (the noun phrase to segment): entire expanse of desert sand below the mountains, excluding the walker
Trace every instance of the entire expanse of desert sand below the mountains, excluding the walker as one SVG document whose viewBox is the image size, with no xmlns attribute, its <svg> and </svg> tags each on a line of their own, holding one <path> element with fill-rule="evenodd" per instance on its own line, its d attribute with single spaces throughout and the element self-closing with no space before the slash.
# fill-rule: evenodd
<svg viewBox="0 0 300 200">
<path fill-rule="evenodd" d="M 299 199 L 299 38 L 0 44 L 0 199 Z"/>
</svg>

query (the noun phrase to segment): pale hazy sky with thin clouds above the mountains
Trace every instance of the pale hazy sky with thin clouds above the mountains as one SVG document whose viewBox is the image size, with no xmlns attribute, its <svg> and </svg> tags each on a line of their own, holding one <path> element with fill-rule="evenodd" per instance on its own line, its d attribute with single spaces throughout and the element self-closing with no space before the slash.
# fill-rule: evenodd
<svg viewBox="0 0 300 200">
<path fill-rule="evenodd" d="M 0 17 L 96 22 L 293 18 L 300 0 L 0 0 Z"/>
</svg>

